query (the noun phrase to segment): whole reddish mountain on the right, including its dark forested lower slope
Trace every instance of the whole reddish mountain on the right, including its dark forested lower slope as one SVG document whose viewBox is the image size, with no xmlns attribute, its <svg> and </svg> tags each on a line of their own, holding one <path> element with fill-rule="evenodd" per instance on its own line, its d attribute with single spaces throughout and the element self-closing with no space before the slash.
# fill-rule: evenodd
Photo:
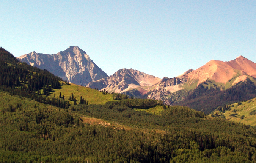
<svg viewBox="0 0 256 163">
<path fill-rule="evenodd" d="M 165 77 L 147 98 L 208 113 L 218 106 L 255 97 L 255 83 L 256 64 L 239 56 L 228 62 L 211 60 L 178 77 Z"/>
</svg>

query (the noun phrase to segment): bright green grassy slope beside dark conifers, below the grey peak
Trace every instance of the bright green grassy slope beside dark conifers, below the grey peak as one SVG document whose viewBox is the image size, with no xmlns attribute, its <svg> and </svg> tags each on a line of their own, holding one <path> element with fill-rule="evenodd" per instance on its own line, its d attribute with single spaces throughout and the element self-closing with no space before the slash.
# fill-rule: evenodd
<svg viewBox="0 0 256 163">
<path fill-rule="evenodd" d="M 61 85 L 61 89 L 54 89 L 49 97 L 52 97 L 54 94 L 56 97 L 59 97 L 59 94 L 64 95 L 66 100 L 69 99 L 69 96 L 73 93 L 74 98 L 77 99 L 77 103 L 80 100 L 80 96 L 85 98 L 88 101 L 88 104 L 105 104 L 107 101 L 114 101 L 112 94 L 102 94 L 95 89 L 87 88 L 84 86 L 79 86 L 70 83 L 69 85 Z M 73 101 L 69 101 L 71 104 L 74 104 Z"/>
</svg>

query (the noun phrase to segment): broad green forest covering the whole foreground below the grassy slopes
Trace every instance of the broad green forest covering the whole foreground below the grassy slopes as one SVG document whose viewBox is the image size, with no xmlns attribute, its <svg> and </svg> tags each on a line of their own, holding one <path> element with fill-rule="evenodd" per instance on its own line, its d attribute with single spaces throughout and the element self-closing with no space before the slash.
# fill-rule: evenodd
<svg viewBox="0 0 256 163">
<path fill-rule="evenodd" d="M 256 161 L 254 128 L 187 107 L 166 107 L 159 116 L 122 103 L 59 111 L 21 99 L 13 108 L 0 111 L 0 162 Z M 83 125 L 77 113 L 138 129 Z"/>
</svg>

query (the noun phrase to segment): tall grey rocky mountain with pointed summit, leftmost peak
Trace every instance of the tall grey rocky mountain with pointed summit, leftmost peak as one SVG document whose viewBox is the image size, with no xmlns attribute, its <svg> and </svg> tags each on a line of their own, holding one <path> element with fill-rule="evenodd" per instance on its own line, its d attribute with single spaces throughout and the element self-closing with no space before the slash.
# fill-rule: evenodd
<svg viewBox="0 0 256 163">
<path fill-rule="evenodd" d="M 41 69 L 47 69 L 63 80 L 78 85 L 87 85 L 91 81 L 108 77 L 85 51 L 77 46 L 70 46 L 68 49 L 57 54 L 42 54 L 31 52 L 17 57 L 22 62 Z"/>
</svg>

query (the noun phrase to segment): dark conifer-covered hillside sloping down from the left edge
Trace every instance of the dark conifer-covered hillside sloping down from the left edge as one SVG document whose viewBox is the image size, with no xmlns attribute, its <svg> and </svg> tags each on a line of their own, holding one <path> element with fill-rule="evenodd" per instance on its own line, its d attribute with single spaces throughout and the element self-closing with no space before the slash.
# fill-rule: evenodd
<svg viewBox="0 0 256 163">
<path fill-rule="evenodd" d="M 69 106 L 66 100 L 47 97 L 52 89 L 59 88 L 59 77 L 47 70 L 19 62 L 3 48 L 0 48 L 0 75 L 0 90 L 60 108 Z"/>
</svg>

